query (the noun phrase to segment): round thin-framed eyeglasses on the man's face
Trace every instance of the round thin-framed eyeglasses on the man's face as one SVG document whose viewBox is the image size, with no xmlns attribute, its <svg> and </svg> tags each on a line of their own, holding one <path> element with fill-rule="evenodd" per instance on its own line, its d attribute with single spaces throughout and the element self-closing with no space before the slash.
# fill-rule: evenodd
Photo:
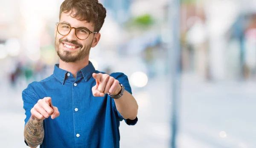
<svg viewBox="0 0 256 148">
<path fill-rule="evenodd" d="M 85 27 L 79 27 L 79 28 L 71 27 L 69 24 L 65 22 L 57 22 L 56 25 L 57 25 L 58 33 L 61 34 L 62 36 L 68 35 L 72 30 L 72 28 L 74 28 L 76 37 L 81 40 L 87 39 L 90 34 L 98 33 L 98 32 L 92 32 Z"/>
</svg>

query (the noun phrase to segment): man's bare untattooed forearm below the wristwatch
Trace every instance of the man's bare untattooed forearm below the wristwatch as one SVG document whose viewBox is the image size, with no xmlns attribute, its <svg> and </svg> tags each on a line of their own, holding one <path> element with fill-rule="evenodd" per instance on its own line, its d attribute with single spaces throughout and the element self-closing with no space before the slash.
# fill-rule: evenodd
<svg viewBox="0 0 256 148">
<path fill-rule="evenodd" d="M 134 120 L 138 113 L 138 104 L 135 98 L 127 91 L 119 99 L 114 99 L 116 109 L 125 119 Z"/>
</svg>

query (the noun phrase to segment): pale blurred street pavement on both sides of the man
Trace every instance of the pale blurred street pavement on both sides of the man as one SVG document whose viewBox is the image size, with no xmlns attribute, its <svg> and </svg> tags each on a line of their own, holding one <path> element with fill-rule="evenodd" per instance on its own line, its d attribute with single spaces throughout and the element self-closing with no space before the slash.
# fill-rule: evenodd
<svg viewBox="0 0 256 148">
<path fill-rule="evenodd" d="M 163 77 L 152 79 L 143 90 L 134 90 L 140 106 L 139 121 L 136 126 L 121 123 L 121 148 L 168 147 L 171 89 L 167 86 Z M 255 88 L 252 81 L 206 83 L 195 76 L 183 75 L 179 148 L 255 148 Z M 26 148 L 21 88 L 12 91 L 8 84 L 2 83 L 0 89 L 0 118 L 4 119 L 0 122 L 1 148 Z"/>
</svg>

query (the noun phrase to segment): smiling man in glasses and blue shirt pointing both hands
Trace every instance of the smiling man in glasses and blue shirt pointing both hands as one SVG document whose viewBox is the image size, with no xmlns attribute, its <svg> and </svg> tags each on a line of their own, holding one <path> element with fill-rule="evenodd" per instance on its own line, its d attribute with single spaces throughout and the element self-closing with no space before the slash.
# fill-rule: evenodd
<svg viewBox="0 0 256 148">
<path fill-rule="evenodd" d="M 137 123 L 138 105 L 123 73 L 94 69 L 106 9 L 98 0 L 65 0 L 55 27 L 60 57 L 48 78 L 23 90 L 24 137 L 36 148 L 119 148 L 119 122 Z"/>
</svg>

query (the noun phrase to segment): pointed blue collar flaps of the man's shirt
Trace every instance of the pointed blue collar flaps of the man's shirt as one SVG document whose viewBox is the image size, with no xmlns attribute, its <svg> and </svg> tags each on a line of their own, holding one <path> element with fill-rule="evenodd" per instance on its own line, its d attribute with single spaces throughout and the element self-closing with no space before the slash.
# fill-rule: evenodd
<svg viewBox="0 0 256 148">
<path fill-rule="evenodd" d="M 84 77 L 84 81 L 88 81 L 90 79 L 90 77 L 93 75 L 93 73 L 95 73 L 95 68 L 94 68 L 92 62 L 89 61 L 89 64 L 79 71 L 81 71 L 81 73 Z M 59 68 L 59 64 L 55 64 L 53 76 L 58 81 L 60 81 L 62 85 L 64 84 L 67 73 L 68 73 L 67 70 L 63 70 L 63 69 Z"/>
</svg>

